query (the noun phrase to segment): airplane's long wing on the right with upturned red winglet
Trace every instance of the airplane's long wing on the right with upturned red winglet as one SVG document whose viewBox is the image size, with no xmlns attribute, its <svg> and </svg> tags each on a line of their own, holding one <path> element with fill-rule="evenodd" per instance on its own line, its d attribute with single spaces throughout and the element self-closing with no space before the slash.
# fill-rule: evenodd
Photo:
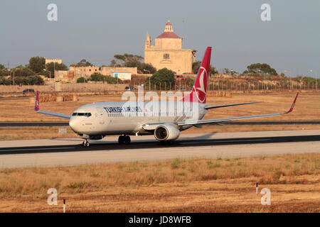
<svg viewBox="0 0 320 227">
<path fill-rule="evenodd" d="M 190 126 L 190 125 L 202 125 L 206 123 L 223 123 L 225 121 L 235 121 L 235 120 L 242 120 L 242 119 L 249 119 L 249 118 L 263 118 L 268 116 L 280 116 L 282 114 L 289 114 L 294 109 L 294 104 L 296 104 L 297 98 L 298 98 L 299 92 L 297 93 L 296 97 L 294 98 L 294 101 L 292 103 L 291 108 L 288 111 L 276 113 L 276 114 L 261 114 L 261 115 L 251 115 L 251 116 L 235 116 L 230 118 L 215 118 L 215 119 L 206 119 L 206 120 L 198 120 L 198 121 L 180 121 L 176 122 L 176 125 L 178 126 Z"/>
</svg>

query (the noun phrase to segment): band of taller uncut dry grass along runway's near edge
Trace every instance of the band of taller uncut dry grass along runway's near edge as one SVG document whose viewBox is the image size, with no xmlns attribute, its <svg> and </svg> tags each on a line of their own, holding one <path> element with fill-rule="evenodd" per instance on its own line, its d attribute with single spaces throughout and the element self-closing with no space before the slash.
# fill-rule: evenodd
<svg viewBox="0 0 320 227">
<path fill-rule="evenodd" d="M 304 184 L 304 181 L 297 180 L 297 177 L 319 174 L 319 154 L 264 157 L 263 165 L 260 157 L 221 160 L 175 158 L 164 161 L 75 167 L 0 169 L 0 192 L 7 193 L 6 196 L 9 197 L 30 192 L 46 192 L 51 187 L 58 187 L 65 192 L 73 189 L 95 192 L 97 188 L 135 188 L 160 183 L 229 180 L 243 177 L 264 184 L 294 182 Z M 79 178 L 81 180 L 75 181 Z"/>
</svg>

